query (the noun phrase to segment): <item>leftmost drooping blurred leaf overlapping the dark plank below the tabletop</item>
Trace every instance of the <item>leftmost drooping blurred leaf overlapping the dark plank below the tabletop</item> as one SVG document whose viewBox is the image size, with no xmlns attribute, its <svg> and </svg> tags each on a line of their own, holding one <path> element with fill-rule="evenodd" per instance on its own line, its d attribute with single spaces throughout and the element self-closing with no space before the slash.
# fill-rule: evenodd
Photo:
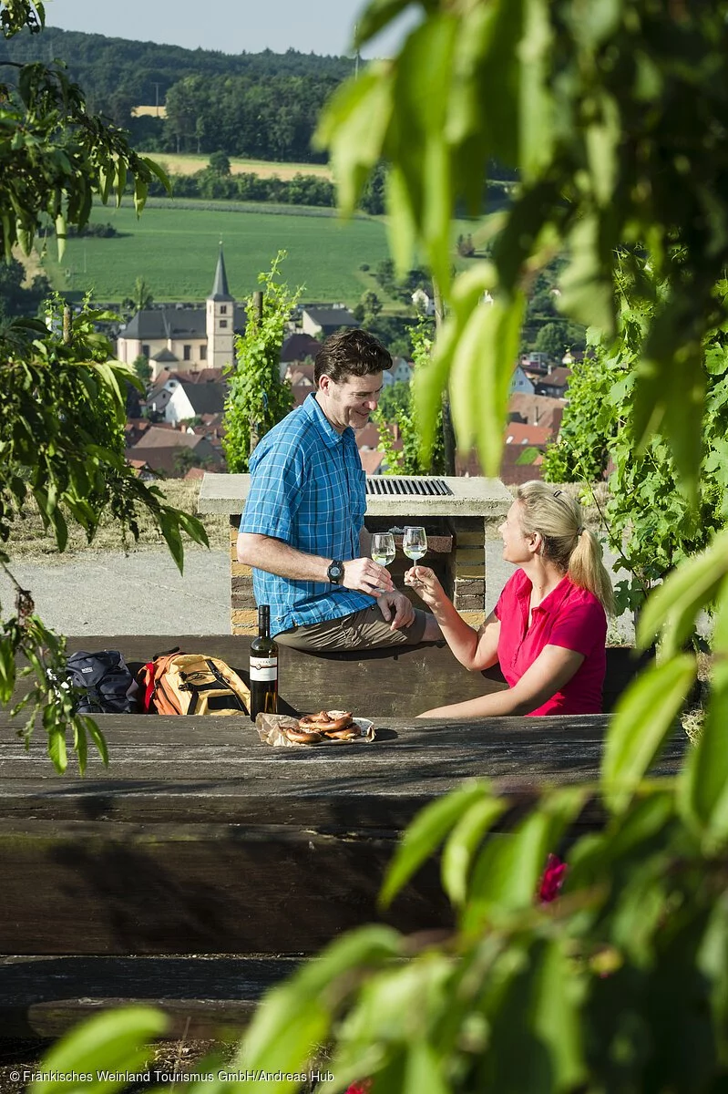
<svg viewBox="0 0 728 1094">
<path fill-rule="evenodd" d="M 426 805 L 404 833 L 385 874 L 379 905 L 387 907 L 402 886 L 442 843 L 459 817 L 470 805 L 489 794 L 483 782 L 467 782 L 460 790 Z"/>
</svg>

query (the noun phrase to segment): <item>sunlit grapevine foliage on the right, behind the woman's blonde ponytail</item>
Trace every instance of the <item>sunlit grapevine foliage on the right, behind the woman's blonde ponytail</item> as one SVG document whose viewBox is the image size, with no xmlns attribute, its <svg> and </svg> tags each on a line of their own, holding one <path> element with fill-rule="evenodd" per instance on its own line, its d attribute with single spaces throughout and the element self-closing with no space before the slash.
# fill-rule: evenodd
<svg viewBox="0 0 728 1094">
<path fill-rule="evenodd" d="M 709 330 L 702 346 L 705 408 L 691 504 L 667 440 L 656 434 L 639 450 L 635 438 L 642 346 L 664 287 L 643 263 L 631 265 L 634 272 L 624 268 L 618 282 L 618 337 L 610 341 L 590 331 L 592 356 L 574 366 L 559 440 L 543 464 L 548 481 L 583 482 L 588 491 L 613 462 L 602 517 L 610 547 L 631 574 L 617 587 L 618 612 L 642 608 L 649 591 L 703 550 L 728 516 L 728 323 L 724 318 Z M 721 280 L 715 289 L 721 310 L 727 298 L 728 282 Z"/>
</svg>

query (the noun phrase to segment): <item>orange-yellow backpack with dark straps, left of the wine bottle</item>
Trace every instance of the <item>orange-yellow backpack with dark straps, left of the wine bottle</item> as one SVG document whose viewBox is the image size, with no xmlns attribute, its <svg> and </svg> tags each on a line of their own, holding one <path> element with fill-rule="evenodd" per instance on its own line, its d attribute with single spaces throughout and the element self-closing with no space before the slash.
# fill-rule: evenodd
<svg viewBox="0 0 728 1094">
<path fill-rule="evenodd" d="M 171 650 L 137 674 L 148 714 L 249 714 L 250 691 L 220 657 Z"/>
</svg>

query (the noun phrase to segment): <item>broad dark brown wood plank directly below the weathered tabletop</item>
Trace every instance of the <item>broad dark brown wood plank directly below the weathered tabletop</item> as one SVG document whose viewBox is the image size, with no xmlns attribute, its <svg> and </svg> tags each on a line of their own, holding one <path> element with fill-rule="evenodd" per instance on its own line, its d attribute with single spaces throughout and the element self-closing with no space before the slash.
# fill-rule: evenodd
<svg viewBox="0 0 728 1094">
<path fill-rule="evenodd" d="M 380 916 L 398 834 L 0 821 L 0 953 L 314 953 L 368 921 L 451 922 L 428 863 Z"/>
</svg>

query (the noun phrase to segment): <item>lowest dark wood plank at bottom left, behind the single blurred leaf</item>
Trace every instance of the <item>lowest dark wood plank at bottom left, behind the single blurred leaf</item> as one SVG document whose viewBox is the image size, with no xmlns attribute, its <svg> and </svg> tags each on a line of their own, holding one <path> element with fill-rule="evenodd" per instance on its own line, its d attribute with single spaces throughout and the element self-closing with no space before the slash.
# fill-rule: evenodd
<svg viewBox="0 0 728 1094">
<path fill-rule="evenodd" d="M 0 958 L 0 1037 L 58 1037 L 110 1006 L 152 1004 L 165 1011 L 169 1037 L 238 1031 L 261 996 L 290 976 L 297 957 L 96 957 L 13 955 Z"/>
</svg>

